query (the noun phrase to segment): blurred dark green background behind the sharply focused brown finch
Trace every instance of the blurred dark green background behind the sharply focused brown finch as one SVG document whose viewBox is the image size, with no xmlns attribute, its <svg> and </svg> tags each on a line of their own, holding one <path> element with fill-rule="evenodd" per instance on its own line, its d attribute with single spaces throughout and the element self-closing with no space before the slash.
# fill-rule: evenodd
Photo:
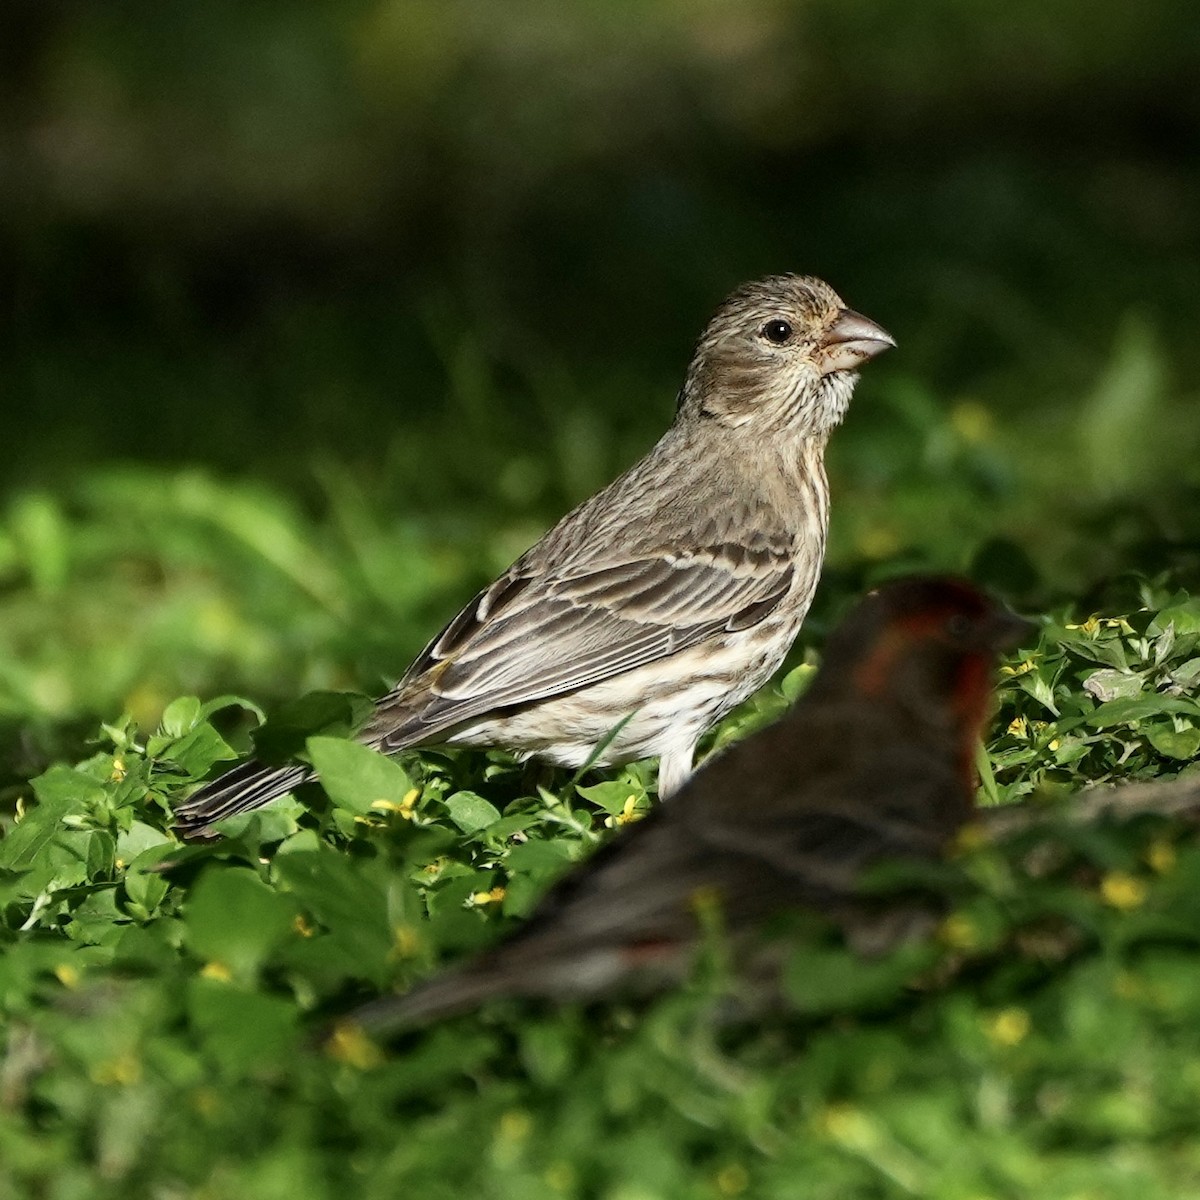
<svg viewBox="0 0 1200 1200">
<path fill-rule="evenodd" d="M 397 672 L 769 271 L 900 347 L 814 629 L 910 564 L 1195 583 L 1198 67 L 1184 0 L 7 0 L 18 769 L 180 690 Z"/>
</svg>

